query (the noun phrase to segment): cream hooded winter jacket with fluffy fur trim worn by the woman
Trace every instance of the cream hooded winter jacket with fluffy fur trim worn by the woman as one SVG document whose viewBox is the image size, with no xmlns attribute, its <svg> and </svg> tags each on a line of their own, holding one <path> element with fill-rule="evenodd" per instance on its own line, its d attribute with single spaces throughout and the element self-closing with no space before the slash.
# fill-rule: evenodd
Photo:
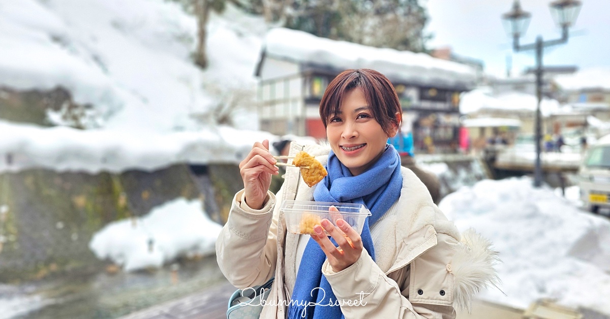
<svg viewBox="0 0 610 319">
<path fill-rule="evenodd" d="M 329 148 L 292 143 L 290 155 L 304 150 L 325 164 Z M 376 261 L 365 249 L 356 263 L 332 271 L 328 260 L 322 273 L 350 318 L 455 318 L 454 308 L 468 307 L 472 296 L 499 282 L 493 265 L 497 253 L 490 242 L 469 230 L 460 234 L 432 203 L 425 185 L 402 167 L 401 196 L 391 226 L 382 229 Z M 314 186 L 315 187 L 315 186 Z M 243 190 L 235 195 L 229 219 L 216 243 L 218 265 L 235 287 L 245 289 L 275 276 L 260 318 L 285 318 L 286 303 L 295 286 L 299 235 L 286 231 L 282 201 L 313 200 L 298 168 L 288 168 L 277 195 L 268 192 L 260 210 L 250 209 Z M 389 210 L 389 211 L 390 211 Z"/>
</svg>

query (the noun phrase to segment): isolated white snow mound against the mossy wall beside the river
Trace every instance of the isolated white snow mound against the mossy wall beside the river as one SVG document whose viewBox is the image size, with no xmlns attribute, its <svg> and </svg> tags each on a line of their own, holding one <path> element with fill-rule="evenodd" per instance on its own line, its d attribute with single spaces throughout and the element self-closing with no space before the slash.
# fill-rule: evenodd
<svg viewBox="0 0 610 319">
<path fill-rule="evenodd" d="M 175 199 L 142 218 L 115 221 L 91 238 L 99 259 L 124 270 L 160 267 L 179 256 L 210 254 L 221 226 L 203 212 L 201 200 Z"/>
</svg>

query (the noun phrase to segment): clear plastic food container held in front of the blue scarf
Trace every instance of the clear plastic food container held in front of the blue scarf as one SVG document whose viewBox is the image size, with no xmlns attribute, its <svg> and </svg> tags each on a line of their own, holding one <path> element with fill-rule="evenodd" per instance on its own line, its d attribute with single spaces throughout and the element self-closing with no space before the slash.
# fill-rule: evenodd
<svg viewBox="0 0 610 319">
<path fill-rule="evenodd" d="M 334 206 L 337 211 L 334 211 L 334 209 L 331 211 L 331 206 Z M 337 220 L 342 218 L 358 234 L 361 234 L 364 220 L 371 215 L 367 207 L 362 204 L 317 201 L 284 201 L 280 210 L 284 212 L 286 227 L 289 232 L 309 235 L 314 234 L 314 225 L 320 224 L 324 218 L 335 226 L 337 226 Z"/>
</svg>

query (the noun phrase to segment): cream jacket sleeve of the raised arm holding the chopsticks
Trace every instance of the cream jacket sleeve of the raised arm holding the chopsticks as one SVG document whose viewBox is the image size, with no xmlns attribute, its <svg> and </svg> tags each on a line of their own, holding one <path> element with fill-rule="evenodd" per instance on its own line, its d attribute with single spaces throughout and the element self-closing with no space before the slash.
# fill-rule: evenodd
<svg viewBox="0 0 610 319">
<path fill-rule="evenodd" d="M 267 192 L 262 209 L 254 210 L 245 204 L 243 192 L 235 194 L 227 223 L 216 241 L 218 267 L 239 289 L 264 284 L 273 277 L 278 260 L 275 196 Z"/>
</svg>

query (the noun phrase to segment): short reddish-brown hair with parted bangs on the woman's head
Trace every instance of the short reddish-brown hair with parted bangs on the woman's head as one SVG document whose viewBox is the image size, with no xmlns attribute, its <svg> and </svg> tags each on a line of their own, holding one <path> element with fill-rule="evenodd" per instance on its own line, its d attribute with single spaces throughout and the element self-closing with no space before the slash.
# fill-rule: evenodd
<svg viewBox="0 0 610 319">
<path fill-rule="evenodd" d="M 383 131 L 390 135 L 392 124 L 400 130 L 400 120 L 396 113 L 402 114 L 403 109 L 398 95 L 386 76 L 370 69 L 345 70 L 332 79 L 320 101 L 320 118 L 324 127 L 331 115 L 336 116 L 339 113 L 343 96 L 357 87 L 364 93 L 373 118 Z"/>
</svg>

